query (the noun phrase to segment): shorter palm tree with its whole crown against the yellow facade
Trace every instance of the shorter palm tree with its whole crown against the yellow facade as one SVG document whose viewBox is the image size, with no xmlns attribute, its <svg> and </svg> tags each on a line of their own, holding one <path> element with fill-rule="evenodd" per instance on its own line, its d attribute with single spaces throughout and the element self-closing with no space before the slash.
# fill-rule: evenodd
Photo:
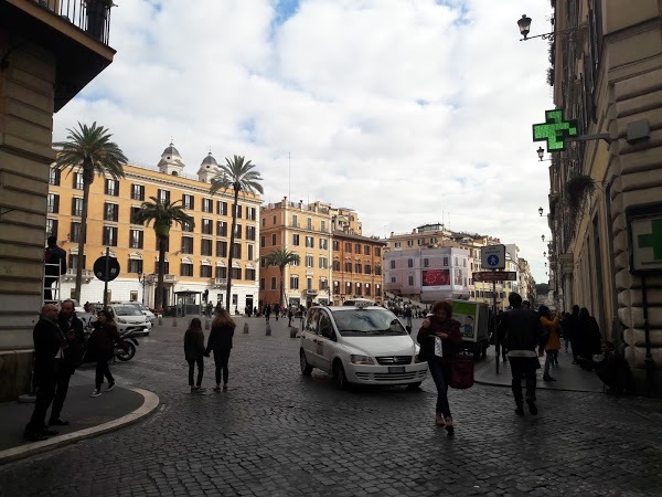
<svg viewBox="0 0 662 497">
<path fill-rule="evenodd" d="M 171 203 L 169 200 L 162 202 L 156 197 L 150 197 L 150 199 L 153 202 L 142 202 L 140 210 L 134 214 L 134 222 L 136 224 L 147 224 L 148 226 L 152 221 L 154 223 L 154 232 L 157 239 L 159 239 L 159 271 L 154 307 L 163 309 L 166 296 L 163 292 L 163 273 L 166 273 L 166 246 L 170 237 L 170 228 L 173 223 L 178 223 L 182 228 L 185 224 L 193 228 L 195 222 L 192 216 L 184 212 L 183 205 L 177 205 L 181 200 Z"/>
</svg>

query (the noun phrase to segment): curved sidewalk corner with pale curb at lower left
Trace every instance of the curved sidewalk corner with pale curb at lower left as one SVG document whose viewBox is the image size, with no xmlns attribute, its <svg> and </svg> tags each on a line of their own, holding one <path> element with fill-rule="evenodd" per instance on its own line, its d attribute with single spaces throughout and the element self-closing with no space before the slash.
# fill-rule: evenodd
<svg viewBox="0 0 662 497">
<path fill-rule="evenodd" d="M 0 465 L 120 430 L 152 414 L 160 403 L 159 395 L 143 389 L 118 387 L 113 392 L 102 395 L 102 398 L 106 398 L 102 402 L 95 402 L 97 399 L 89 399 L 88 389 L 83 390 L 83 387 L 71 390 L 73 390 L 71 391 L 73 395 L 67 400 L 70 401 L 67 411 L 75 415 L 72 426 L 82 426 L 82 429 L 53 436 L 43 442 L 23 443 L 20 435 L 23 429 L 23 420 L 28 420 L 30 416 L 31 404 L 8 403 L 0 405 L 0 414 L 6 414 L 1 417 L 20 420 L 21 423 L 14 430 L 18 434 L 18 436 L 14 436 L 17 445 L 0 451 Z M 83 403 L 83 399 L 87 402 Z M 12 435 L 15 434 L 12 433 Z"/>
</svg>

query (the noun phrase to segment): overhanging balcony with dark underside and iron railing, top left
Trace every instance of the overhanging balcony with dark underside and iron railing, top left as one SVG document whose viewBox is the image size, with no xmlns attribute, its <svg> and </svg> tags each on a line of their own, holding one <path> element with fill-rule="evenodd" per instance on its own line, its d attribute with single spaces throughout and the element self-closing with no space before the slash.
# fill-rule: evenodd
<svg viewBox="0 0 662 497">
<path fill-rule="evenodd" d="M 2 0 L 0 31 L 24 36 L 55 56 L 54 112 L 60 110 L 111 62 L 110 8 L 106 0 Z M 11 66 L 20 47 L 10 49 Z"/>
</svg>

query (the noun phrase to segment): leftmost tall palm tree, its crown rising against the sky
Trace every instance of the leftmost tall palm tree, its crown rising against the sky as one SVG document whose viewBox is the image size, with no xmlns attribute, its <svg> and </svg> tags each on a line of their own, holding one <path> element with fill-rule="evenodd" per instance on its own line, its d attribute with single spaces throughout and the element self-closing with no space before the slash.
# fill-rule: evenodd
<svg viewBox="0 0 662 497">
<path fill-rule="evenodd" d="M 78 258 L 76 264 L 76 288 L 74 290 L 76 300 L 81 302 L 81 287 L 83 283 L 85 237 L 87 235 L 87 205 L 89 203 L 89 187 L 94 182 L 95 175 L 104 177 L 109 175 L 117 180 L 125 177 L 124 165 L 127 162 L 121 149 L 116 142 L 110 141 L 108 129 L 78 123 L 79 129 L 67 129 L 68 141 L 53 144 L 60 148 L 55 159 L 55 169 L 71 169 L 71 171 L 83 175 L 83 212 L 81 213 L 81 237 L 78 239 Z M 70 172 L 71 172 L 70 171 Z"/>
</svg>

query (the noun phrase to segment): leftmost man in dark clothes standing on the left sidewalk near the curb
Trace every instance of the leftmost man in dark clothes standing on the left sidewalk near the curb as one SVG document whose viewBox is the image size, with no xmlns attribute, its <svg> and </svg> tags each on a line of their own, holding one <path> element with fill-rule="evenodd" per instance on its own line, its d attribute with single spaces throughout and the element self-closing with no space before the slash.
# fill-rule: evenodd
<svg viewBox="0 0 662 497">
<path fill-rule="evenodd" d="M 63 357 L 66 340 L 57 327 L 57 306 L 46 304 L 42 307 L 40 319 L 34 325 L 32 339 L 34 341 L 34 382 L 36 399 L 30 422 L 25 425 L 23 438 L 30 442 L 41 442 L 57 432 L 46 427 L 46 411 L 53 402 L 56 385 L 57 358 Z"/>
</svg>

